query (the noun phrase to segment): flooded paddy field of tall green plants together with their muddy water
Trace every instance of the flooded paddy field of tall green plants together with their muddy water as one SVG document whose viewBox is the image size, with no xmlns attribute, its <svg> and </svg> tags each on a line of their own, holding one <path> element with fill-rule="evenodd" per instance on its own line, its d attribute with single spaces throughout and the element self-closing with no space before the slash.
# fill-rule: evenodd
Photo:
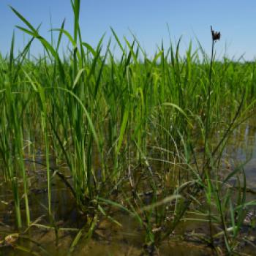
<svg viewBox="0 0 256 256">
<path fill-rule="evenodd" d="M 31 39 L 0 55 L 0 255 L 255 255 L 256 62 L 217 60 L 212 28 L 210 56 L 92 47 L 79 0 L 48 42 L 11 9 Z"/>
</svg>

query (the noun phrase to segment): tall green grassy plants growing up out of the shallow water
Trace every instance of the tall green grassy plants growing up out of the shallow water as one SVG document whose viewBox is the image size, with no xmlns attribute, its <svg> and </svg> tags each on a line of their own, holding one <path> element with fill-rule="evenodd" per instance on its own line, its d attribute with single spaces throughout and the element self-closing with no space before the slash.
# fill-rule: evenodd
<svg viewBox="0 0 256 256">
<path fill-rule="evenodd" d="M 216 254 L 238 253 L 255 201 L 246 200 L 243 165 L 223 172 L 222 153 L 233 131 L 254 114 L 256 63 L 215 61 L 214 34 L 211 56 L 200 44 L 181 56 L 178 41 L 148 59 L 136 37 L 121 45 L 113 29 L 106 50 L 102 40 L 92 48 L 80 35 L 80 1 L 72 8 L 74 31 L 64 23 L 53 29 L 56 45 L 12 9 L 31 41 L 14 56 L 13 36 L 10 54 L 0 56 L 0 176 L 12 191 L 17 229 L 36 220 L 29 173 L 40 164 L 47 176 L 48 225 L 54 226 L 55 179 L 88 217 L 70 252 L 102 219 L 120 225 L 111 215 L 116 209 L 138 222 L 145 254 L 175 236 L 184 219 L 206 223 L 207 232 L 197 238 Z M 69 49 L 60 56 L 63 37 Z M 45 53 L 29 59 L 35 40 Z M 231 187 L 228 181 L 237 176 Z"/>
</svg>

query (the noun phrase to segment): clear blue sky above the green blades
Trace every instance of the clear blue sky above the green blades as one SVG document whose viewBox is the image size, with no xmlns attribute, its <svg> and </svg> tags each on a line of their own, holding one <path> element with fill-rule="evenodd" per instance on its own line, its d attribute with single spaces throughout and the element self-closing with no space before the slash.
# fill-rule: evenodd
<svg viewBox="0 0 256 256">
<path fill-rule="evenodd" d="M 50 39 L 50 13 L 53 28 L 59 28 L 66 18 L 66 29 L 72 31 L 72 8 L 69 0 L 1 0 L 0 52 L 10 50 L 15 25 L 22 22 L 10 10 L 15 7 L 34 26 L 42 23 L 40 34 Z M 168 45 L 167 24 L 173 41 L 182 35 L 181 50 L 187 48 L 195 36 L 209 53 L 210 26 L 221 31 L 217 43 L 219 56 L 225 53 L 237 59 L 245 53 L 247 60 L 256 56 L 256 1 L 255 0 L 81 0 L 80 27 L 83 41 L 95 46 L 102 34 L 110 37 L 110 26 L 118 37 L 131 39 L 129 29 L 138 37 L 148 55 L 152 55 L 163 39 Z M 15 46 L 21 49 L 29 37 L 15 29 Z M 124 42 L 124 41 L 123 41 Z M 32 53 L 42 53 L 38 42 Z"/>
</svg>

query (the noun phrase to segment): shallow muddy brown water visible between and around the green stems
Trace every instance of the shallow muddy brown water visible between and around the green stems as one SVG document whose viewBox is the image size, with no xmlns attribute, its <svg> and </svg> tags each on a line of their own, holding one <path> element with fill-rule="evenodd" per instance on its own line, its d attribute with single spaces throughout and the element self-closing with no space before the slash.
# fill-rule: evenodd
<svg viewBox="0 0 256 256">
<path fill-rule="evenodd" d="M 232 173 L 236 167 L 243 165 L 246 176 L 246 202 L 256 200 L 256 123 L 255 118 L 250 118 L 241 124 L 233 132 L 227 141 L 225 151 L 222 154 L 222 169 L 220 176 L 227 176 Z M 30 183 L 29 201 L 31 225 L 22 230 L 17 230 L 15 222 L 15 212 L 13 211 L 12 191 L 7 182 L 1 181 L 1 208 L 0 208 L 0 237 L 1 237 L 1 255 L 217 255 L 218 251 L 209 246 L 207 238 L 210 236 L 208 227 L 208 218 L 201 212 L 195 212 L 192 207 L 190 211 L 175 230 L 165 238 L 157 249 L 146 248 L 146 231 L 138 222 L 134 214 L 122 211 L 120 208 L 112 206 L 109 208 L 109 216 L 99 217 L 94 227 L 94 232 L 90 238 L 86 235 L 93 219 L 94 214 L 84 214 L 76 205 L 72 193 L 61 181 L 61 178 L 54 176 L 51 184 L 51 206 L 52 216 L 48 215 L 48 187 L 47 176 L 44 165 L 45 158 L 37 152 L 35 162 L 26 162 L 28 178 Z M 200 154 L 202 156 L 200 156 Z M 198 159 L 203 157 L 200 151 Z M 153 157 L 152 157 L 153 158 Z M 165 163 L 159 165 L 157 161 L 149 161 L 152 170 L 166 167 Z M 165 165 L 165 166 L 164 166 Z M 59 165 L 61 173 L 68 173 L 66 167 Z M 56 161 L 51 159 L 51 167 L 57 169 Z M 170 173 L 168 173 L 170 175 Z M 236 194 L 238 181 L 241 180 L 241 174 L 232 177 L 228 181 L 228 186 Z M 67 180 L 70 177 L 67 176 Z M 130 187 L 125 188 L 126 195 L 130 194 Z M 148 189 L 144 185 L 143 189 Z M 159 188 L 159 194 L 161 188 Z M 152 192 L 144 191 L 140 193 L 150 205 L 152 201 Z M 116 200 L 124 197 L 117 196 Z M 118 199 L 119 198 L 119 199 Z M 200 200 L 200 196 L 198 197 Z M 203 201 L 202 195 L 202 201 Z M 236 200 L 236 197 L 233 198 Z M 125 203 L 124 203 L 125 206 Z M 207 207 L 202 205 L 202 208 Z M 23 219 L 26 218 L 25 206 L 20 205 Z M 247 206 L 244 208 L 243 224 L 241 225 L 240 235 L 238 237 L 237 248 L 241 255 L 254 255 L 256 246 L 256 208 Z M 112 219 L 113 218 L 113 219 Z M 168 222 L 166 217 L 165 222 Z M 87 223 L 87 224 L 86 224 Z M 87 227 L 86 227 L 87 225 Z M 225 243 L 223 234 L 218 227 L 219 224 L 213 224 L 214 246 L 222 248 Z M 155 224 L 151 225 L 153 233 L 160 232 L 161 228 Z M 74 247 L 74 239 L 77 234 L 83 230 L 81 238 Z M 219 234 L 219 236 L 218 236 Z M 72 248 L 72 249 L 71 249 Z M 221 253 L 221 249 L 219 253 Z"/>
</svg>

